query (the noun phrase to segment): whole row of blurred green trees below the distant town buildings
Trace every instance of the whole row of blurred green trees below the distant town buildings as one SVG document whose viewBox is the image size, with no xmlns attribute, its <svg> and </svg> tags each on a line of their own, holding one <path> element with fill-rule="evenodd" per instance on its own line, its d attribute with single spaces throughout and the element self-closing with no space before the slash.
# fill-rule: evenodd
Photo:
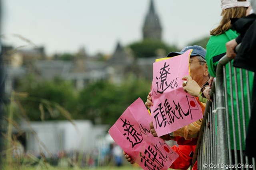
<svg viewBox="0 0 256 170">
<path fill-rule="evenodd" d="M 56 78 L 54 81 L 36 81 L 33 75 L 19 82 L 16 97 L 30 121 L 89 119 L 95 124 L 112 125 L 137 98 L 146 101 L 151 82 L 130 78 L 120 85 L 108 81 L 88 84 L 80 91 L 70 82 Z M 62 108 L 62 109 L 61 109 Z"/>
</svg>

